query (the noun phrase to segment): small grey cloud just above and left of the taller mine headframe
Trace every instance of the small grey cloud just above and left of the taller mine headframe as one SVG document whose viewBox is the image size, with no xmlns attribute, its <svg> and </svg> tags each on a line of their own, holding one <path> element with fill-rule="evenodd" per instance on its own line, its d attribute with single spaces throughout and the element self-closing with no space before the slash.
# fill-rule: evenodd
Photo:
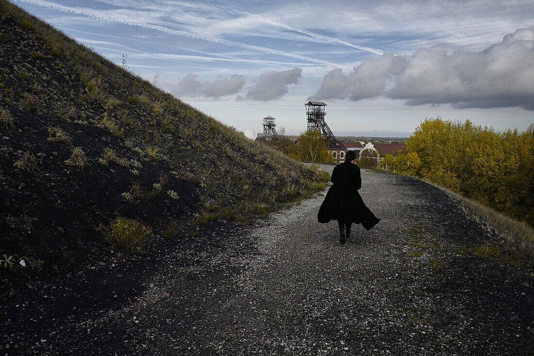
<svg viewBox="0 0 534 356">
<path fill-rule="evenodd" d="M 247 91 L 247 99 L 268 101 L 280 99 L 289 91 L 289 84 L 296 84 L 301 78 L 302 69 L 268 72 L 255 79 L 256 84 Z"/>
</svg>

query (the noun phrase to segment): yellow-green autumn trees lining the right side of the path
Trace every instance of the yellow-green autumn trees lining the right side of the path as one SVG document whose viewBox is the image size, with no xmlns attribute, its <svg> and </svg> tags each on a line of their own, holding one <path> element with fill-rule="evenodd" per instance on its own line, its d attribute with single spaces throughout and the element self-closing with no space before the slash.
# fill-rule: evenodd
<svg viewBox="0 0 534 356">
<path fill-rule="evenodd" d="M 496 131 L 470 121 L 425 119 L 406 152 L 384 157 L 381 167 L 443 185 L 534 226 L 534 124 Z"/>
</svg>

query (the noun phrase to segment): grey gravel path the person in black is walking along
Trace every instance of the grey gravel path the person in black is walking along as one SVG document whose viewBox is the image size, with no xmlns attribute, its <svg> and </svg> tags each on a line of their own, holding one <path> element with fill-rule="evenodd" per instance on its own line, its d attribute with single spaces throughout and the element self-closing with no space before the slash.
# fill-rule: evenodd
<svg viewBox="0 0 534 356">
<path fill-rule="evenodd" d="M 441 190 L 362 179 L 382 221 L 347 244 L 317 223 L 324 196 L 199 236 L 128 303 L 51 322 L 24 354 L 534 354 L 530 270 L 469 253 L 490 233 Z"/>
</svg>

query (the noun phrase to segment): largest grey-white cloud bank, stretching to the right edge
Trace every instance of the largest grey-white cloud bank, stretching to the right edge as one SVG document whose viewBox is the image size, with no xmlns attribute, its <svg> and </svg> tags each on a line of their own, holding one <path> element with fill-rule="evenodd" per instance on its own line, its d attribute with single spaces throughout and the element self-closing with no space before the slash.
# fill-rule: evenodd
<svg viewBox="0 0 534 356">
<path fill-rule="evenodd" d="M 390 89 L 388 80 L 392 80 Z M 519 29 L 480 52 L 454 51 L 449 55 L 445 45 L 438 44 L 418 49 L 407 60 L 391 54 L 367 59 L 348 75 L 334 69 L 312 97 L 360 100 L 386 96 L 411 106 L 519 106 L 534 110 L 532 83 L 534 30 Z"/>
</svg>

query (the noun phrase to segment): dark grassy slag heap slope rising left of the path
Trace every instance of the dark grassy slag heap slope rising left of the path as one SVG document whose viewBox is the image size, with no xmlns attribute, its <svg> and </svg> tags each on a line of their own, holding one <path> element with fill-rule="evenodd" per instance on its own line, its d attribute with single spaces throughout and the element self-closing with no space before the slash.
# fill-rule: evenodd
<svg viewBox="0 0 534 356">
<path fill-rule="evenodd" d="M 72 143 L 49 140 L 50 127 Z M 324 175 L 247 140 L 5 0 L 0 138 L 0 256 L 49 268 L 105 246 L 96 228 L 115 216 L 142 221 L 155 234 L 171 220 L 245 223 L 325 186 Z M 84 167 L 68 165 L 75 147 L 87 156 Z M 35 171 L 13 166 L 25 154 L 33 154 Z"/>
</svg>

